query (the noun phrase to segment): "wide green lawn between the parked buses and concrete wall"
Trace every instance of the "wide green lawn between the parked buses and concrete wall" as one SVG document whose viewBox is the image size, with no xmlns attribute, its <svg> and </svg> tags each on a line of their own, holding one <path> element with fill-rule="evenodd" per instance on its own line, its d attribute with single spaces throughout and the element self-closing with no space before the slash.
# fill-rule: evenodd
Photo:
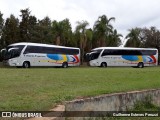
<svg viewBox="0 0 160 120">
<path fill-rule="evenodd" d="M 0 111 L 49 110 L 106 93 L 160 88 L 160 67 L 0 68 Z"/>
</svg>

